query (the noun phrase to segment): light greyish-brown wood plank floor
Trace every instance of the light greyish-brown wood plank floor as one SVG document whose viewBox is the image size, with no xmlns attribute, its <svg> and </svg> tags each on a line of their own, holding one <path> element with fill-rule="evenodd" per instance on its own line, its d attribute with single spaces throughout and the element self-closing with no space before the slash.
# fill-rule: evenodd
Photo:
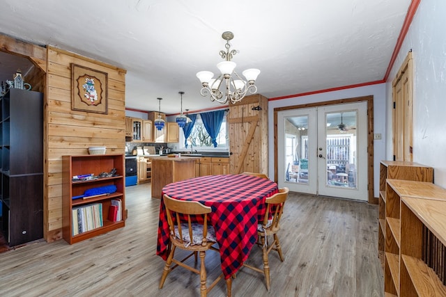
<svg viewBox="0 0 446 297">
<path fill-rule="evenodd" d="M 120 230 L 72 246 L 37 242 L 0 253 L 0 296 L 199 296 L 199 276 L 183 268 L 158 289 L 160 200 L 150 189 L 126 188 L 128 220 Z M 270 293 L 263 275 L 242 268 L 233 296 L 383 296 L 377 218 L 376 205 L 290 193 L 279 233 L 285 261 L 270 253 Z M 261 265 L 257 246 L 249 263 Z M 206 267 L 208 280 L 220 275 L 220 255 L 209 252 Z M 220 282 L 209 296 L 225 293 Z"/>
</svg>

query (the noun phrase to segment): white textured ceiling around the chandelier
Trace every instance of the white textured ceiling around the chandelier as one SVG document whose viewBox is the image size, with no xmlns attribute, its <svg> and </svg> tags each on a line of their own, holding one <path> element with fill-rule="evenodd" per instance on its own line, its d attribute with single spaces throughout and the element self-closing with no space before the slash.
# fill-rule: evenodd
<svg viewBox="0 0 446 297">
<path fill-rule="evenodd" d="M 236 71 L 256 67 L 268 98 L 384 78 L 410 0 L 3 0 L 0 33 L 127 70 L 125 106 L 220 106 L 195 74 L 217 72 L 232 31 Z M 1 58 L 1 57 L 0 57 Z M 0 63 L 3 67 L 3 64 Z M 15 72 L 14 70 L 9 70 Z M 10 74 L 12 77 L 12 73 Z"/>
</svg>

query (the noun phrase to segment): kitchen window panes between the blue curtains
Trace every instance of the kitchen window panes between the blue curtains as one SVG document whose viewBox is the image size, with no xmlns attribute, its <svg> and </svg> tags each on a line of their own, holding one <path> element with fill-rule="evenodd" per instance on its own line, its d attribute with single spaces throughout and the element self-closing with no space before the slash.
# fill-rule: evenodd
<svg viewBox="0 0 446 297">
<path fill-rule="evenodd" d="M 180 129 L 183 131 L 183 129 Z M 195 120 L 194 128 L 192 128 L 192 132 L 187 139 L 187 148 L 185 147 L 185 138 L 184 133 L 180 133 L 180 149 L 190 150 L 192 145 L 192 150 L 227 150 L 229 149 L 229 138 L 226 134 L 227 131 L 227 122 L 226 122 L 226 114 L 224 115 L 222 126 L 220 127 L 220 132 L 217 136 L 217 147 L 214 147 L 208 131 L 203 125 L 201 121 L 201 117 L 198 114 L 197 120 Z"/>
</svg>

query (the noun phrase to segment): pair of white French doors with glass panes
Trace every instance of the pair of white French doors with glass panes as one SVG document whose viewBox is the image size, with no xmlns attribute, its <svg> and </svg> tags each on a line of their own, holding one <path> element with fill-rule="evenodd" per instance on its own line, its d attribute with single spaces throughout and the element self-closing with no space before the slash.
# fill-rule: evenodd
<svg viewBox="0 0 446 297">
<path fill-rule="evenodd" d="M 367 102 L 277 114 L 279 186 L 368 200 Z"/>
</svg>

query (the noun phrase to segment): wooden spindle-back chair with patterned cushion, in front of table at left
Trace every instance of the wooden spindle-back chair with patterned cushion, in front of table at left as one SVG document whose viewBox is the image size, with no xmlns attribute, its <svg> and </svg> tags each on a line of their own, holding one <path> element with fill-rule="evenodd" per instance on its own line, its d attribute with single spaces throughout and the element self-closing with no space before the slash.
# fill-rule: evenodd
<svg viewBox="0 0 446 297">
<path fill-rule="evenodd" d="M 160 289 L 164 285 L 167 275 L 174 270 L 174 268 L 181 266 L 189 271 L 200 275 L 200 293 L 201 297 L 206 297 L 206 294 L 215 287 L 215 284 L 223 278 L 221 274 L 209 287 L 206 287 L 206 266 L 204 258 L 207 250 L 219 250 L 213 245 L 217 242 L 215 238 L 215 230 L 212 226 L 208 226 L 208 214 L 211 211 L 210 207 L 194 202 L 183 201 L 170 198 L 164 194 L 164 205 L 167 212 L 167 222 L 169 224 L 169 236 L 171 241 L 171 248 L 169 256 L 167 257 L 164 271 L 162 272 L 160 280 Z M 192 223 L 191 216 L 203 215 L 203 225 Z M 183 221 L 180 220 L 183 218 Z M 187 222 L 186 222 L 187 218 Z M 190 255 L 184 259 L 178 260 L 174 258 L 176 248 L 190 251 Z M 195 262 L 197 262 L 197 252 L 200 257 L 200 269 L 194 268 L 185 264 L 185 260 L 194 255 Z M 174 266 L 171 267 L 172 262 Z M 232 280 L 226 280 L 226 294 L 231 297 Z"/>
</svg>

